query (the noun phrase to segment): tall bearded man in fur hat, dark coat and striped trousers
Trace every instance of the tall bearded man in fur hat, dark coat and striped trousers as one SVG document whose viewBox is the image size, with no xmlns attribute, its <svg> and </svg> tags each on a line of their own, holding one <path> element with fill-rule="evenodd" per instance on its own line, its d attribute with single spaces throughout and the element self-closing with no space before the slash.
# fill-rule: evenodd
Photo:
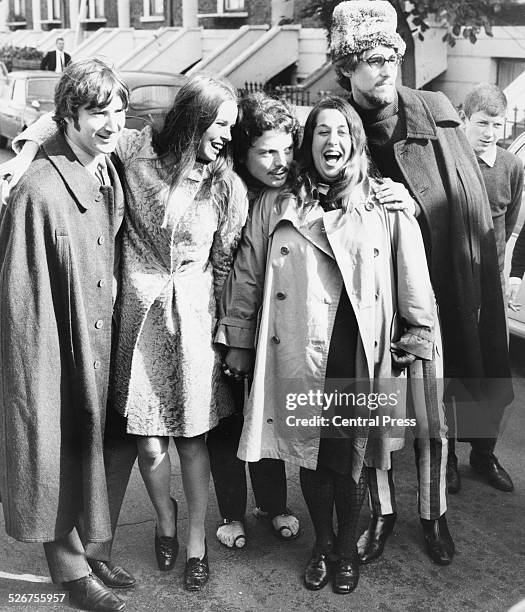
<svg viewBox="0 0 525 612">
<path fill-rule="evenodd" d="M 494 437 L 491 412 L 512 400 L 490 207 L 449 100 L 396 86 L 405 52 L 396 27 L 388 2 L 342 2 L 333 13 L 332 62 L 361 116 L 373 162 L 383 176 L 404 183 L 415 200 L 440 311 L 445 378 L 451 380 L 447 409 L 457 410 L 462 435 L 483 452 L 483 437 Z M 454 544 L 445 518 L 445 468 L 454 476 L 457 463 L 447 466 L 445 437 L 418 438 L 417 429 L 415 435 L 426 550 L 432 561 L 447 565 Z M 487 455 L 488 470 L 497 469 L 494 459 Z M 369 479 L 372 516 L 358 545 L 362 563 L 382 554 L 396 520 L 392 470 L 369 470 Z"/>
</svg>

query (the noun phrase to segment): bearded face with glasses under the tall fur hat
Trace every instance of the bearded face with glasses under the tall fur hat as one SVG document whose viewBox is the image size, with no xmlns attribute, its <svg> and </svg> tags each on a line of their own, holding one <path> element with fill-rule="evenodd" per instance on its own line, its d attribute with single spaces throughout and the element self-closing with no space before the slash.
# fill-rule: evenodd
<svg viewBox="0 0 525 612">
<path fill-rule="evenodd" d="M 391 47 L 374 47 L 362 53 L 354 70 L 343 71 L 350 79 L 352 97 L 361 108 L 382 108 L 395 99 L 398 66 L 394 62 L 385 62 L 382 67 L 369 66 L 365 60 L 374 55 L 390 59 L 397 53 Z"/>
</svg>

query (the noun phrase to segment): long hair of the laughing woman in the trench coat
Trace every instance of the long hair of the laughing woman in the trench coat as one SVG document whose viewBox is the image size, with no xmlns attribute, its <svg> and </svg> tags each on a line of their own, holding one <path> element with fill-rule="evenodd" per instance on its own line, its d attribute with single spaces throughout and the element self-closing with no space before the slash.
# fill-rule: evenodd
<svg viewBox="0 0 525 612">
<path fill-rule="evenodd" d="M 336 182 L 331 183 L 327 201 L 341 201 L 343 210 L 347 210 L 352 202 L 352 196 L 360 195 L 369 176 L 369 157 L 366 147 L 366 135 L 363 124 L 357 112 L 343 98 L 328 96 L 313 107 L 304 125 L 303 141 L 297 153 L 297 172 L 291 177 L 290 191 L 299 198 L 299 204 L 304 204 L 308 191 L 317 187 L 324 180 L 319 176 L 312 158 L 312 142 L 317 118 L 325 109 L 338 110 L 346 119 L 352 149 Z"/>
</svg>

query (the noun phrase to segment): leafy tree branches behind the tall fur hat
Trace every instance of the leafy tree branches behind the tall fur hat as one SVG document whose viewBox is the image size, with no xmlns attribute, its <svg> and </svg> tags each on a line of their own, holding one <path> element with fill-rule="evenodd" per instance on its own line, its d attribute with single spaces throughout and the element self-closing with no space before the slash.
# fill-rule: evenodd
<svg viewBox="0 0 525 612">
<path fill-rule="evenodd" d="M 435 16 L 446 27 L 443 41 L 453 47 L 460 37 L 475 43 L 482 29 L 492 36 L 491 24 L 500 6 L 497 0 L 414 0 L 412 4 L 403 0 L 389 1 L 396 9 L 398 32 L 407 45 L 402 66 L 403 83 L 411 87 L 415 85 L 416 75 L 413 37 L 415 34 L 420 40 L 424 39 L 424 32 L 430 27 L 427 23 L 430 16 Z M 340 2 L 342 0 L 310 0 L 301 16 L 317 16 L 329 38 L 332 13 Z"/>
</svg>

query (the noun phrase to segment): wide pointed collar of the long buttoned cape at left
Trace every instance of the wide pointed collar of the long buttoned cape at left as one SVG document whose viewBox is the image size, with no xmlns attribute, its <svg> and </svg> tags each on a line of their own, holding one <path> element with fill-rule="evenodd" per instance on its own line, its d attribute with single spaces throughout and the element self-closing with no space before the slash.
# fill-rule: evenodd
<svg viewBox="0 0 525 612">
<path fill-rule="evenodd" d="M 61 133 L 49 138 L 42 148 L 78 204 L 87 210 L 100 192 L 96 179 L 78 161 Z"/>
</svg>

